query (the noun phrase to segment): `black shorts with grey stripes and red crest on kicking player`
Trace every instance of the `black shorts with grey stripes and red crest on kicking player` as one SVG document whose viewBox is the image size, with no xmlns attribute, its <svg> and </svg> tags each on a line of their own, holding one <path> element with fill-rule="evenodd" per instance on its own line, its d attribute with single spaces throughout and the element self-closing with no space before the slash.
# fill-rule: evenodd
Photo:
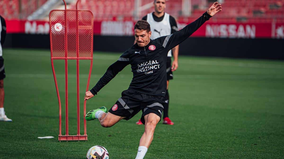
<svg viewBox="0 0 284 159">
<path fill-rule="evenodd" d="M 155 113 L 160 119 L 162 118 L 164 101 L 163 96 L 153 96 L 127 89 L 121 93 L 121 98 L 108 112 L 129 120 L 142 110 L 141 122 L 145 124 L 144 116 L 149 113 Z"/>
</svg>

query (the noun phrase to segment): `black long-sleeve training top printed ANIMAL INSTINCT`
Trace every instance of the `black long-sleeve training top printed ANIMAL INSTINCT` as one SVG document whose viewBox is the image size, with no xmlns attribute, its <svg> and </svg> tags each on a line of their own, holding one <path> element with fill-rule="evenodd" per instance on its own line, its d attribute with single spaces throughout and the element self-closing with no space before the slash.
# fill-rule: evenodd
<svg viewBox="0 0 284 159">
<path fill-rule="evenodd" d="M 180 31 L 150 40 L 145 47 L 134 44 L 110 65 L 98 83 L 90 90 L 97 94 L 124 67 L 131 65 L 133 78 L 128 89 L 150 95 L 165 96 L 167 89 L 166 62 L 169 50 L 193 34 L 211 16 L 205 12 Z"/>
</svg>

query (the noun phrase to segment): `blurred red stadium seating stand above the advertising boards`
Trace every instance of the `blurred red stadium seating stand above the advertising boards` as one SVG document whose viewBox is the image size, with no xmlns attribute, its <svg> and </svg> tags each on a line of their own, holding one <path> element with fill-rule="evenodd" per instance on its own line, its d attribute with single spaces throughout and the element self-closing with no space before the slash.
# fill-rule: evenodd
<svg viewBox="0 0 284 159">
<path fill-rule="evenodd" d="M 0 14 L 6 19 L 27 19 L 48 0 L 1 0 Z M 58 0 L 62 2 L 61 0 Z M 167 0 L 166 12 L 178 21 L 192 22 L 215 0 Z M 75 8 L 76 0 L 67 1 Z M 223 12 L 214 22 L 284 22 L 283 0 L 222 0 Z M 62 3 L 60 3 L 62 5 Z M 138 20 L 154 10 L 153 0 L 81 0 L 78 9 L 91 10 L 94 20 Z M 62 6 L 57 6 L 62 8 Z M 47 8 L 48 12 L 54 9 Z M 37 17 L 38 19 L 46 19 Z"/>
</svg>

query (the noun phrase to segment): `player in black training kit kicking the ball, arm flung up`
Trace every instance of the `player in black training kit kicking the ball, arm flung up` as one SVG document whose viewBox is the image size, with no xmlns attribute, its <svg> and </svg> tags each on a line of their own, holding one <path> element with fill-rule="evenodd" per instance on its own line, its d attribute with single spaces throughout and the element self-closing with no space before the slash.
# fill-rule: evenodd
<svg viewBox="0 0 284 159">
<path fill-rule="evenodd" d="M 156 125 L 161 120 L 164 96 L 167 89 L 166 62 L 169 50 L 183 42 L 206 20 L 220 12 L 221 5 L 215 2 L 200 18 L 180 31 L 151 40 L 151 28 L 147 21 L 139 20 L 134 26 L 136 44 L 126 50 L 119 59 L 110 65 L 106 73 L 84 100 L 92 98 L 125 66 L 131 65 L 133 79 L 127 90 L 106 113 L 101 107 L 89 111 L 87 121 L 99 119 L 103 127 L 111 127 L 121 119 L 129 120 L 142 110 L 141 122 L 145 131 L 140 139 L 136 159 L 144 158 L 154 136 Z"/>
</svg>

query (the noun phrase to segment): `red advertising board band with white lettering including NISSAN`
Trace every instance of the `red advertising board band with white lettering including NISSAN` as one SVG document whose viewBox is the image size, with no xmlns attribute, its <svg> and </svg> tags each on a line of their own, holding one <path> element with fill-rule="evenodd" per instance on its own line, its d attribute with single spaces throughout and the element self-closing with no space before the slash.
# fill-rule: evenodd
<svg viewBox="0 0 284 159">
<path fill-rule="evenodd" d="M 7 33 L 49 34 L 45 21 L 8 20 Z M 94 35 L 134 35 L 133 21 L 94 22 Z M 178 23 L 182 29 L 187 23 Z M 211 23 L 203 24 L 192 37 L 214 38 L 284 38 L 284 23 Z"/>
</svg>

